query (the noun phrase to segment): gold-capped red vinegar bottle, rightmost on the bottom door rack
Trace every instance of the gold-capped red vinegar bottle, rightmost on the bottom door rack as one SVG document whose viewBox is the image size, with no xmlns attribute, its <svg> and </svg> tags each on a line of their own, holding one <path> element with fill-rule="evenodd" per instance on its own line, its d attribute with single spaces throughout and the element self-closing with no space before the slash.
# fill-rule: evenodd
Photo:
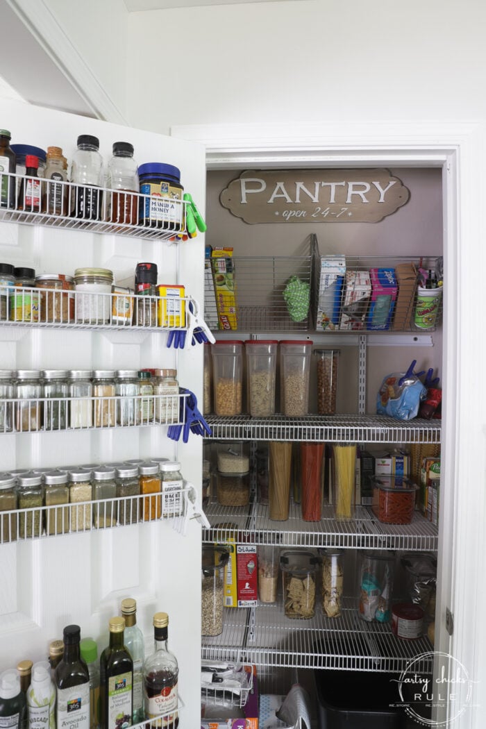
<svg viewBox="0 0 486 729">
<path fill-rule="evenodd" d="M 167 646 L 169 617 L 166 612 L 154 615 L 154 652 L 145 660 L 144 698 L 145 716 L 153 729 L 176 729 L 179 725 L 177 709 L 177 658 Z M 162 717 L 161 717 L 162 714 Z"/>
</svg>

